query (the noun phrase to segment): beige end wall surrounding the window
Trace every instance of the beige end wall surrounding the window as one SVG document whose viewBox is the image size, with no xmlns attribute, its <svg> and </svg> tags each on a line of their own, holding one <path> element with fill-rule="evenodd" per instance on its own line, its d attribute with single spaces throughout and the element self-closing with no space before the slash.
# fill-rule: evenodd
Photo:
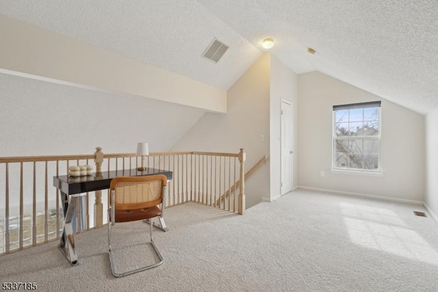
<svg viewBox="0 0 438 292">
<path fill-rule="evenodd" d="M 424 119 L 407 108 L 318 72 L 298 76 L 298 184 L 422 202 Z M 382 176 L 331 172 L 332 106 L 382 101 Z M 320 171 L 325 176 L 320 177 Z"/>
</svg>

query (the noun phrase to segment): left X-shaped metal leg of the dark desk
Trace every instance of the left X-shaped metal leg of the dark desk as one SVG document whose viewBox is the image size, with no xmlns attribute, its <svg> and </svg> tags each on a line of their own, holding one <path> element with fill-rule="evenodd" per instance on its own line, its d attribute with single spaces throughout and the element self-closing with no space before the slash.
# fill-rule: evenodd
<svg viewBox="0 0 438 292">
<path fill-rule="evenodd" d="M 72 217 L 76 210 L 79 197 L 70 197 L 70 203 L 68 203 L 68 196 L 62 192 L 61 196 L 64 202 L 64 231 L 62 232 L 60 240 L 60 250 L 72 265 L 76 265 L 77 254 L 75 249 L 75 237 L 73 236 Z"/>
</svg>

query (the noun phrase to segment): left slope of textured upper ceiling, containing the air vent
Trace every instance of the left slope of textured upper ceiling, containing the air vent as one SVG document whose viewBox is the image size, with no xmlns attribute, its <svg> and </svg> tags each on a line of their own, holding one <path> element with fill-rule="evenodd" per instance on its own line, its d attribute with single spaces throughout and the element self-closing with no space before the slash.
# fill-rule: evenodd
<svg viewBox="0 0 438 292">
<path fill-rule="evenodd" d="M 194 0 L 1 0 L 0 14 L 228 89 L 261 55 Z M 215 64 L 214 38 L 233 48 Z"/>
</svg>

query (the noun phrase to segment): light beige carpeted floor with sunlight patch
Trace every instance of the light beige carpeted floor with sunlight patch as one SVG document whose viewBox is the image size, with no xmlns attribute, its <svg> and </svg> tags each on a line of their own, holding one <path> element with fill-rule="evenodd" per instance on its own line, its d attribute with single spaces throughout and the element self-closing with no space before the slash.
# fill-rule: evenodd
<svg viewBox="0 0 438 292">
<path fill-rule="evenodd" d="M 0 282 L 37 282 L 38 291 L 438 291 L 438 224 L 413 210 L 426 212 L 302 190 L 244 216 L 188 203 L 166 210 L 169 232 L 154 230 L 164 256 L 155 269 L 114 278 L 105 227 L 75 236 L 75 267 L 57 242 L 1 256 Z M 124 265 L 149 252 L 147 227 L 116 225 L 114 245 L 130 251 L 118 251 Z"/>
</svg>

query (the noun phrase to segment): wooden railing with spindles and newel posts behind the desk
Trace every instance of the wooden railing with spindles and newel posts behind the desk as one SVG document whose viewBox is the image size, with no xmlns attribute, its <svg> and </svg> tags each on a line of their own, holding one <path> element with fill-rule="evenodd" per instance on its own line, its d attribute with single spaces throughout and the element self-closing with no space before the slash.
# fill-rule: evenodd
<svg viewBox="0 0 438 292">
<path fill-rule="evenodd" d="M 64 215 L 60 191 L 53 187 L 54 176 L 68 173 L 70 165 L 92 165 L 93 160 L 96 174 L 133 169 L 139 159 L 136 153 L 104 154 L 101 147 L 85 155 L 0 157 L 0 256 L 60 239 Z M 197 202 L 243 215 L 245 160 L 244 149 L 238 153 L 153 152 L 147 158 L 147 167 L 173 173 L 165 208 Z M 227 208 L 226 204 L 215 204 L 230 186 L 233 191 L 239 188 L 239 193 L 229 195 L 234 195 L 232 204 L 230 199 Z M 75 232 L 103 226 L 106 206 L 103 191 L 83 194 Z"/>
</svg>

